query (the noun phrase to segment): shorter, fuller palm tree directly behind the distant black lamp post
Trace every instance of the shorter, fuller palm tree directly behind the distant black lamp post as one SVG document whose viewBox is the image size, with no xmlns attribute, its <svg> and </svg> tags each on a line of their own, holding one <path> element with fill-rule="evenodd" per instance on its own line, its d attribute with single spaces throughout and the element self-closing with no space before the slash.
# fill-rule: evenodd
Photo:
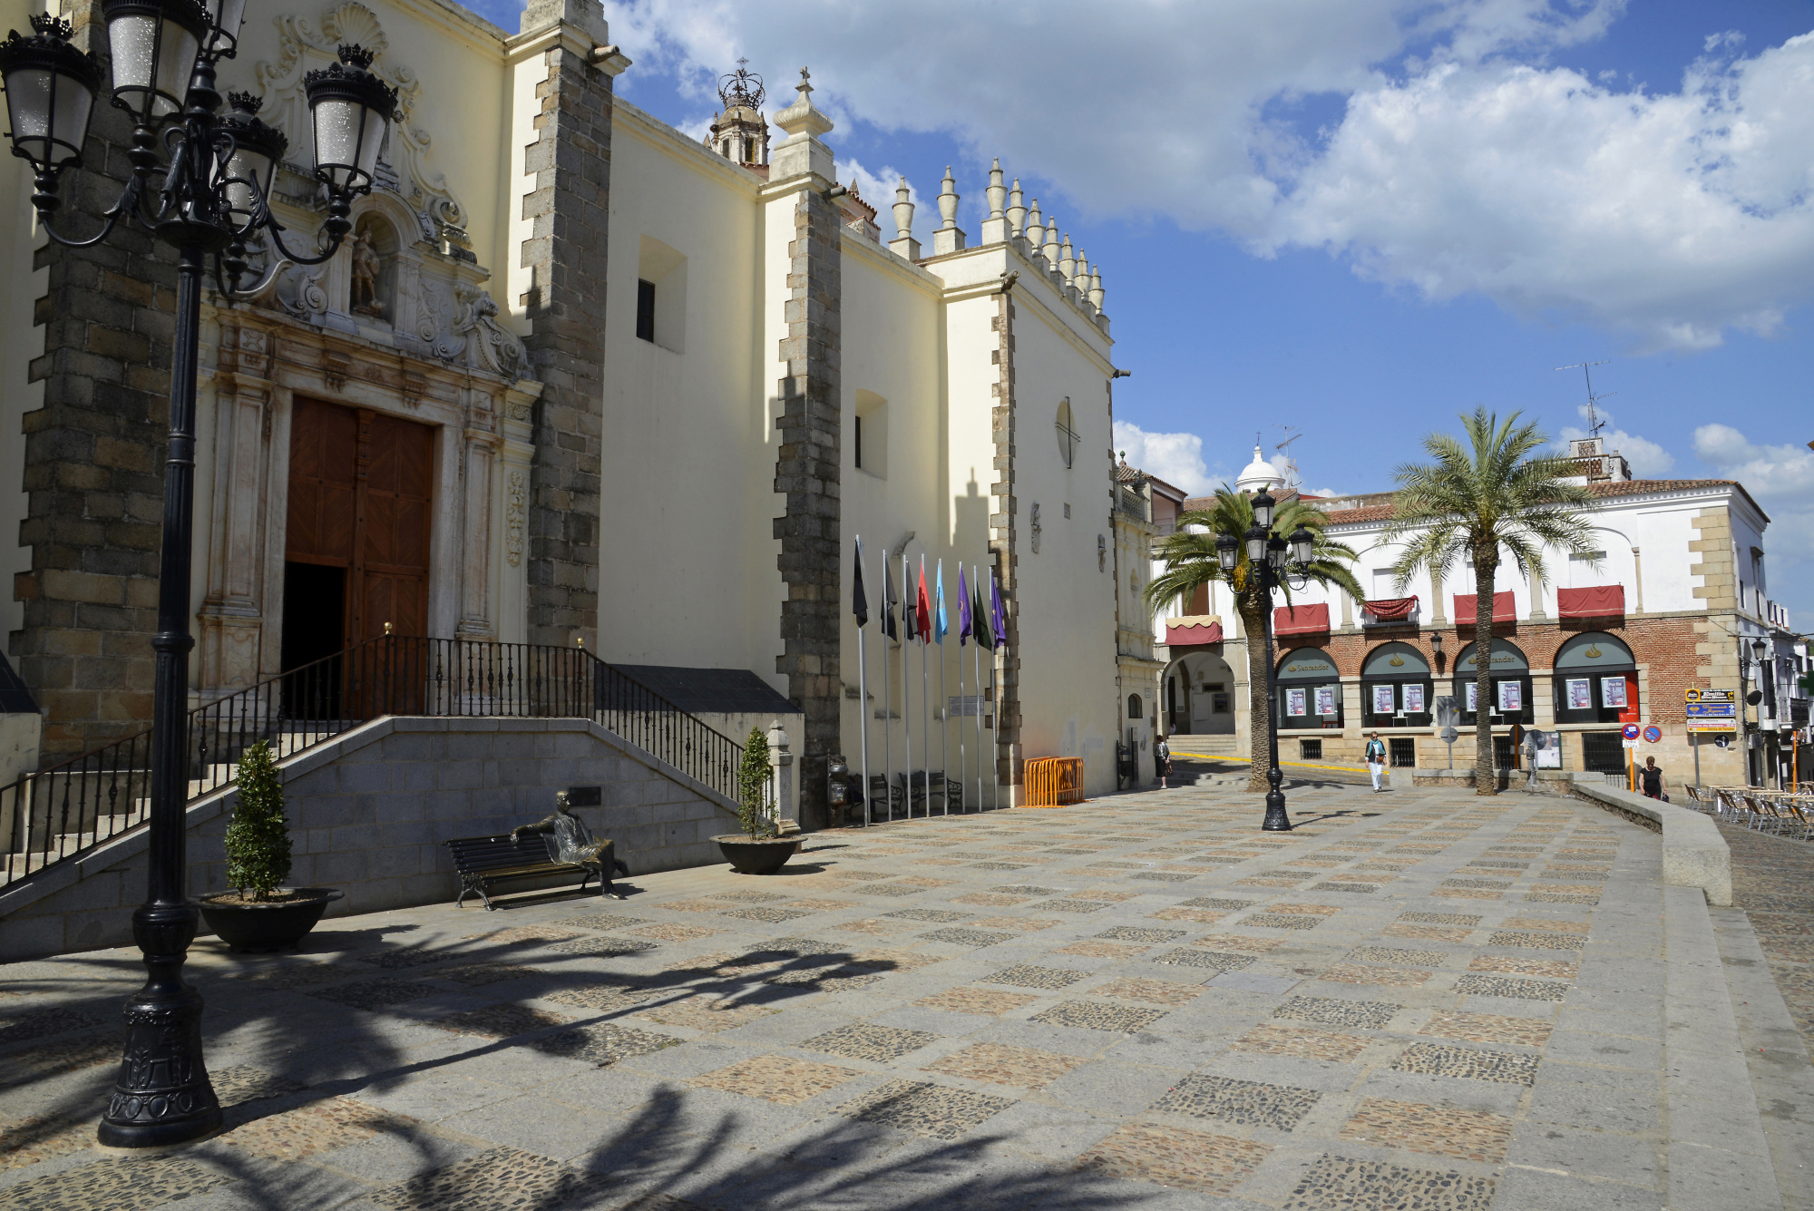
<svg viewBox="0 0 1814 1211">
<path fill-rule="evenodd" d="M 1348 595 L 1360 598 L 1360 584 L 1344 562 L 1353 562 L 1355 553 L 1326 538 L 1322 529 L 1330 524 L 1328 515 L 1304 504 L 1299 497 L 1284 499 L 1272 513 L 1272 533 L 1284 538 L 1299 526 L 1315 538 L 1310 566 L 1304 578 L 1321 586 L 1337 586 Z M 1272 700 L 1266 694 L 1266 595 L 1261 591 L 1259 576 L 1248 564 L 1246 546 L 1241 546 L 1241 558 L 1232 573 L 1224 573 L 1215 558 L 1215 540 L 1232 535 L 1237 542 L 1253 528 L 1253 502 L 1246 493 L 1234 491 L 1228 484 L 1215 489 L 1215 506 L 1210 509 L 1192 509 L 1179 515 L 1177 531 L 1159 542 L 1159 558 L 1165 571 L 1146 586 L 1148 609 L 1165 609 L 1177 598 L 1190 598 L 1197 587 L 1212 580 L 1226 580 L 1234 589 L 1235 613 L 1241 615 L 1241 627 L 1248 640 L 1248 738 L 1252 741 L 1252 772 L 1248 790 L 1266 790 L 1266 769 L 1272 765 L 1266 736 L 1272 720 Z M 1195 531 L 1195 533 L 1192 533 Z M 1284 600 L 1290 604 L 1292 589 L 1284 586 Z"/>
</svg>

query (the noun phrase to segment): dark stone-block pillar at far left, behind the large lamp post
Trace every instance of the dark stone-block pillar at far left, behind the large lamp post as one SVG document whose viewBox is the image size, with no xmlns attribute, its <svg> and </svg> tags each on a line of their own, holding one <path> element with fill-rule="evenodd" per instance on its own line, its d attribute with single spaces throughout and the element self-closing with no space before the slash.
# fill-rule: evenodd
<svg viewBox="0 0 1814 1211">
<path fill-rule="evenodd" d="M 105 54 L 98 9 L 69 16 L 78 45 Z M 63 176 L 69 234 L 98 230 L 94 216 L 131 176 L 129 140 L 125 116 L 96 103 L 83 167 Z M 47 712 L 42 756 L 54 760 L 151 718 L 176 257 L 122 223 L 93 248 L 47 243 L 34 265 L 49 270 L 49 292 L 36 301 L 44 354 L 27 377 L 44 383 L 44 406 L 22 424 L 31 571 L 13 584 L 24 627 L 9 651 Z"/>
</svg>

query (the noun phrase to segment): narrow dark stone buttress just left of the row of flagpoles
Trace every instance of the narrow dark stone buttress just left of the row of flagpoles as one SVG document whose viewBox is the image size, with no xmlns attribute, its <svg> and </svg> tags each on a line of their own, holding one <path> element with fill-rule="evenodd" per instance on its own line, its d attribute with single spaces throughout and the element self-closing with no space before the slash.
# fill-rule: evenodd
<svg viewBox="0 0 1814 1211">
<path fill-rule="evenodd" d="M 844 676 L 840 662 L 840 491 L 842 406 L 838 381 L 844 214 L 818 189 L 804 189 L 787 245 L 787 335 L 776 384 L 775 491 L 787 513 L 775 518 L 782 544 L 776 566 L 782 602 L 782 654 L 787 698 L 805 714 L 800 745 L 800 825 L 825 827 L 825 758 L 838 751 Z"/>
</svg>

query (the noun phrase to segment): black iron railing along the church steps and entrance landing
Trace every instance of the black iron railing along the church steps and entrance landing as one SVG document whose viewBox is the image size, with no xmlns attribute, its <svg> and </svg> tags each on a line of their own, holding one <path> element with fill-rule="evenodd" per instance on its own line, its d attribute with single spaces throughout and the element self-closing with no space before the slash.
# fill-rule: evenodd
<svg viewBox="0 0 1814 1211">
<path fill-rule="evenodd" d="M 189 712 L 189 798 L 263 740 L 283 761 L 386 714 L 590 718 L 726 798 L 744 749 L 579 647 L 385 635 Z M 145 823 L 151 732 L 0 787 L 0 886 Z"/>
</svg>

